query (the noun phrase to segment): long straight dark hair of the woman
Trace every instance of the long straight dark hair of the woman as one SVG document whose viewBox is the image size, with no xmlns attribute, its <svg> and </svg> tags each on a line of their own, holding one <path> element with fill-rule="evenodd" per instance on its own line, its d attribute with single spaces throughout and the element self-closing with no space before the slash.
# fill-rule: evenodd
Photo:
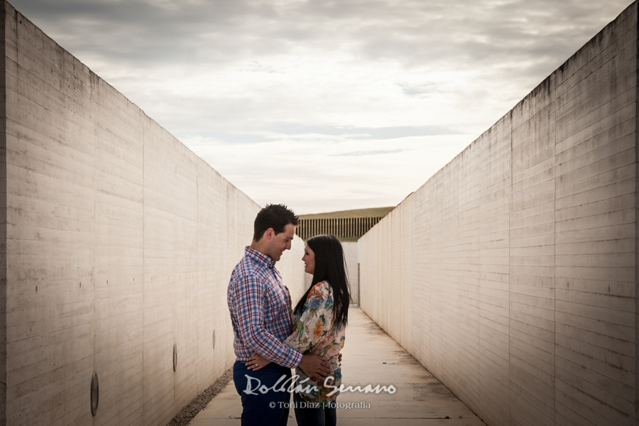
<svg viewBox="0 0 639 426">
<path fill-rule="evenodd" d="M 344 261 L 344 249 L 335 236 L 316 235 L 308 239 L 306 244 L 315 253 L 315 268 L 310 288 L 302 296 L 295 306 L 295 313 L 301 314 L 304 310 L 308 293 L 313 285 L 320 281 L 328 281 L 333 292 L 333 324 L 346 325 L 349 320 L 349 303 L 351 290 L 349 278 L 346 275 L 346 261 Z"/>
</svg>

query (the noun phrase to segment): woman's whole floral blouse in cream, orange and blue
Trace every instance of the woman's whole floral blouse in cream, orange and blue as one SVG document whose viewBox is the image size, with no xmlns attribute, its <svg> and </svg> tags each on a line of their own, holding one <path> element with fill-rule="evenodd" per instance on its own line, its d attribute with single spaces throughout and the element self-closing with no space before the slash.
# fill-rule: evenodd
<svg viewBox="0 0 639 426">
<path fill-rule="evenodd" d="M 333 324 L 333 303 L 329 283 L 321 281 L 315 284 L 308 293 L 302 315 L 293 314 L 293 334 L 284 341 L 284 344 L 302 354 L 328 356 L 327 363 L 333 371 L 334 381 L 329 379 L 327 385 L 339 389 L 339 385 L 342 384 L 342 368 L 339 366 L 337 354 L 344 347 L 346 336 L 343 324 L 339 324 L 339 327 Z M 333 395 L 327 395 L 335 389 L 324 387 L 323 379 L 309 377 L 300 368 L 297 368 L 297 374 L 300 376 L 297 384 L 300 384 L 302 388 L 309 388 L 308 392 L 300 393 L 305 401 L 321 403 L 322 407 L 325 407 L 337 398 L 339 391 Z M 305 381 L 306 378 L 309 380 Z M 313 386 L 319 391 L 312 389 Z"/>
</svg>

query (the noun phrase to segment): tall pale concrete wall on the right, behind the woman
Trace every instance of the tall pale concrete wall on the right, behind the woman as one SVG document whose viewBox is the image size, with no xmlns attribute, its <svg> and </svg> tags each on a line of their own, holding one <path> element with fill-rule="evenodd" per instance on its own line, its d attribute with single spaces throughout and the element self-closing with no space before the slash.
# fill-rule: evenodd
<svg viewBox="0 0 639 426">
<path fill-rule="evenodd" d="M 361 307 L 487 425 L 638 425 L 637 3 L 360 241 Z"/>
</svg>

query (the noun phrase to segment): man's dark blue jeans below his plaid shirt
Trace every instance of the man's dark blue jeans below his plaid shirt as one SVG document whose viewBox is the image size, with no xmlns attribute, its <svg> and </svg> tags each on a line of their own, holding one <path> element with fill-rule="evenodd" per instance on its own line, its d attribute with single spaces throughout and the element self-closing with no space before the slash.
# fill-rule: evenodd
<svg viewBox="0 0 639 426">
<path fill-rule="evenodd" d="M 249 376 L 247 378 L 246 376 Z M 285 378 L 282 379 L 282 376 Z M 235 361 L 233 366 L 233 381 L 235 389 L 242 400 L 242 426 L 286 426 L 290 404 L 290 393 L 275 392 L 271 388 L 280 381 L 277 389 L 290 386 L 290 368 L 268 364 L 258 371 L 251 371 L 246 364 Z M 258 388 L 266 386 L 269 389 L 261 393 Z M 246 393 L 245 391 L 249 391 Z"/>
</svg>

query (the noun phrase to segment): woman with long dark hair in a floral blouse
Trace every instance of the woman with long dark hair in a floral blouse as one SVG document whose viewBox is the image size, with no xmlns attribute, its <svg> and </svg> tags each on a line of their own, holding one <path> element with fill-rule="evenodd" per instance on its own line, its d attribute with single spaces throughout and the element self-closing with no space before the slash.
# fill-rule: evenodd
<svg viewBox="0 0 639 426">
<path fill-rule="evenodd" d="M 324 378 L 309 377 L 297 368 L 298 383 L 305 389 L 293 393 L 295 418 L 298 426 L 335 425 L 335 400 L 339 392 L 334 390 L 342 383 L 338 354 L 346 339 L 344 331 L 350 302 L 342 244 L 332 235 L 314 236 L 306 243 L 302 261 L 304 271 L 313 275 L 312 284 L 293 310 L 293 334 L 284 344 L 302 354 L 327 357 L 333 374 L 332 379 L 327 378 L 327 387 L 324 386 Z M 250 369 L 259 370 L 269 362 L 256 353 L 247 365 Z"/>
</svg>

